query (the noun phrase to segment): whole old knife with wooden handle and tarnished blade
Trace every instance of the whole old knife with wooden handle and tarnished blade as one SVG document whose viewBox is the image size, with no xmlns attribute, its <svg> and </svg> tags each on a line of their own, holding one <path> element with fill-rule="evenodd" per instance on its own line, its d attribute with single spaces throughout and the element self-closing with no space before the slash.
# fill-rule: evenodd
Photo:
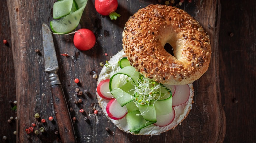
<svg viewBox="0 0 256 143">
<path fill-rule="evenodd" d="M 57 71 L 59 69 L 53 36 L 44 23 L 42 24 L 44 65 L 45 72 L 49 73 L 49 80 L 53 96 L 53 105 L 61 141 L 64 143 L 75 143 L 75 131 L 70 117 L 68 105 L 64 96 Z"/>
</svg>

